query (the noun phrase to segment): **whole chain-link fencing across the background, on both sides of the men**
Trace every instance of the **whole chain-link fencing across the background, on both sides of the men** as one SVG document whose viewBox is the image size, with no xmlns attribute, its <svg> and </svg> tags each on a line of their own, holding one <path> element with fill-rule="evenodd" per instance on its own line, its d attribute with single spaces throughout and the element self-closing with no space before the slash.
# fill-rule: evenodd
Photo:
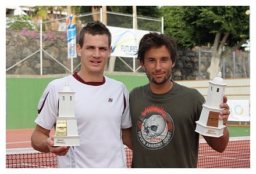
<svg viewBox="0 0 256 174">
<path fill-rule="evenodd" d="M 86 23 L 94 20 L 102 20 L 102 13 L 77 16 L 77 36 Z M 134 28 L 134 16 L 107 12 L 106 23 L 112 27 Z M 20 29 L 11 29 L 12 24 Z M 162 32 L 163 19 L 137 17 L 137 28 Z M 180 52 L 183 53 L 177 60 L 177 73 L 173 74 L 173 79 L 209 79 L 207 68 L 211 63 L 211 51 Z M 221 61 L 219 68 L 224 78 L 250 77 L 250 53 L 233 52 Z M 67 59 L 66 17 L 41 23 L 6 21 L 6 74 L 70 74 L 79 70 L 79 57 Z M 105 70 L 143 72 L 134 57 L 111 57 Z"/>
</svg>

